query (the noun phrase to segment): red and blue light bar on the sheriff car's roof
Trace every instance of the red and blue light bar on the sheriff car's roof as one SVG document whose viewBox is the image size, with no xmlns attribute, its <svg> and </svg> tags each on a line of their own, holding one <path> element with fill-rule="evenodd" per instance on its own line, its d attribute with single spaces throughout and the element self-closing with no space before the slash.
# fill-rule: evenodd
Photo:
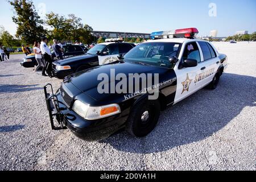
<svg viewBox="0 0 256 182">
<path fill-rule="evenodd" d="M 197 28 L 183 28 L 171 31 L 152 32 L 150 39 L 195 38 L 198 33 Z"/>
</svg>

